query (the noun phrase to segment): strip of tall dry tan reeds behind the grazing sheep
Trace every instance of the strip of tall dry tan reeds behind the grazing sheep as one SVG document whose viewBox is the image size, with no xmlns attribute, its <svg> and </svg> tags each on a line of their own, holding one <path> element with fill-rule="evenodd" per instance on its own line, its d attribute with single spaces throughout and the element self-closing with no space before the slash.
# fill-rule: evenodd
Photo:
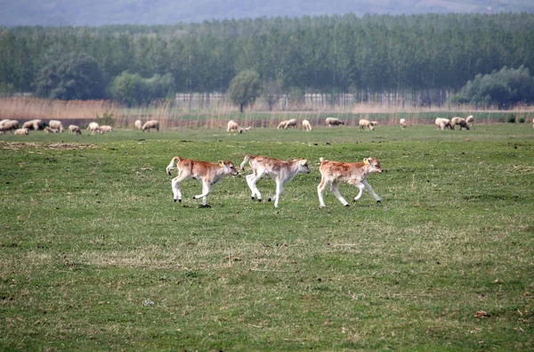
<svg viewBox="0 0 534 352">
<path fill-rule="evenodd" d="M 350 108 L 320 107 L 313 109 L 302 103 L 288 106 L 284 111 L 262 110 L 261 104 L 248 108 L 240 114 L 237 107 L 217 104 L 214 108 L 190 110 L 166 100 L 145 105 L 126 107 L 110 101 L 58 101 L 35 98 L 0 98 L 0 119 L 59 119 L 82 127 L 103 115 L 112 115 L 115 127 L 134 128 L 134 121 L 157 119 L 162 128 L 222 128 L 230 119 L 241 126 L 276 127 L 282 119 L 308 119 L 313 126 L 322 125 L 329 116 L 343 119 L 346 126 L 358 126 L 360 119 L 378 120 L 381 125 L 396 125 L 399 119 L 407 119 L 410 125 L 432 124 L 437 117 L 452 118 L 474 115 L 476 123 L 506 122 L 511 111 L 495 109 L 478 110 L 473 106 L 457 107 L 402 107 L 391 104 L 358 103 Z M 517 120 L 530 121 L 534 107 L 517 106 L 513 111 Z"/>
</svg>

